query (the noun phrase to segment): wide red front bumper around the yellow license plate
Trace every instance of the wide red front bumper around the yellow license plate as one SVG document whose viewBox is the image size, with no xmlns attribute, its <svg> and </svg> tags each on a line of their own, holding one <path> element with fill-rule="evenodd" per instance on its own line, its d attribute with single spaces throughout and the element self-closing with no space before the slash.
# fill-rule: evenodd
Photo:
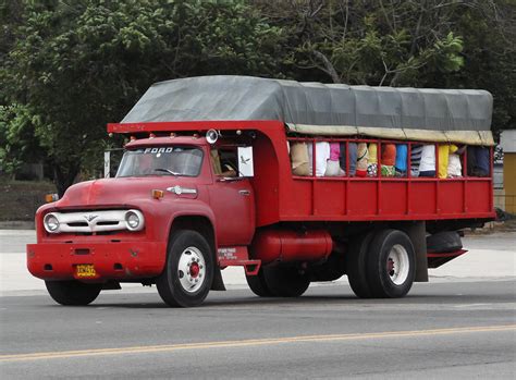
<svg viewBox="0 0 516 380">
<path fill-rule="evenodd" d="M 160 242 L 27 244 L 28 271 L 42 280 L 123 282 L 161 273 L 167 244 Z M 93 265 L 95 275 L 77 274 L 77 265 Z"/>
</svg>

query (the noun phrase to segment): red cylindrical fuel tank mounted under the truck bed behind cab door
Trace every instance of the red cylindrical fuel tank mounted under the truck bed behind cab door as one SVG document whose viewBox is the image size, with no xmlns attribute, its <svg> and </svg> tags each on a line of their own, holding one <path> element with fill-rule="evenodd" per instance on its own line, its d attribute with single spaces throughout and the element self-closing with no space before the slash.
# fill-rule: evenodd
<svg viewBox="0 0 516 380">
<path fill-rule="evenodd" d="M 318 261 L 330 256 L 333 242 L 324 230 L 262 230 L 250 246 L 253 259 L 272 261 Z"/>
</svg>

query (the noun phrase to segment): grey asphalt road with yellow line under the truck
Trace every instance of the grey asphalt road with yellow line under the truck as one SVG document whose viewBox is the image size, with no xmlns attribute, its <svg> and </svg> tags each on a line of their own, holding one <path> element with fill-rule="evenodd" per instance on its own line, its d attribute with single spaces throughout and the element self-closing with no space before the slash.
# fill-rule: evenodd
<svg viewBox="0 0 516 380">
<path fill-rule="evenodd" d="M 347 285 L 298 299 L 247 290 L 202 307 L 156 294 L 102 294 L 89 307 L 1 299 L 3 379 L 487 378 L 516 375 L 516 281 L 416 284 L 360 301 Z"/>
</svg>

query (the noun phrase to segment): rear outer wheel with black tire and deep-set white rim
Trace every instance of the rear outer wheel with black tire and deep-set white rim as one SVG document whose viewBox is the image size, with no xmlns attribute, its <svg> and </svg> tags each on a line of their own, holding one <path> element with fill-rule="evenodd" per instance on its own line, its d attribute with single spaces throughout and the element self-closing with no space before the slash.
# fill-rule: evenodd
<svg viewBox="0 0 516 380">
<path fill-rule="evenodd" d="M 383 230 L 372 238 L 367 257 L 367 283 L 374 298 L 398 298 L 410 290 L 416 260 L 410 238 L 402 231 Z"/>
</svg>

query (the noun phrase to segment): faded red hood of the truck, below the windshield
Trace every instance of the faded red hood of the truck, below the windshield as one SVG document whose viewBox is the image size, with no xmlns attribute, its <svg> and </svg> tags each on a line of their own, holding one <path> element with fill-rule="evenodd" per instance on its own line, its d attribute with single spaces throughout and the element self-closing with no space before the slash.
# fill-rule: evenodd
<svg viewBox="0 0 516 380">
<path fill-rule="evenodd" d="M 188 181 L 188 187 L 196 187 Z M 123 206 L 135 205 L 140 199 L 149 200 L 152 189 L 186 185 L 182 177 L 145 176 L 103 179 L 77 183 L 66 191 L 56 207 Z"/>
</svg>

